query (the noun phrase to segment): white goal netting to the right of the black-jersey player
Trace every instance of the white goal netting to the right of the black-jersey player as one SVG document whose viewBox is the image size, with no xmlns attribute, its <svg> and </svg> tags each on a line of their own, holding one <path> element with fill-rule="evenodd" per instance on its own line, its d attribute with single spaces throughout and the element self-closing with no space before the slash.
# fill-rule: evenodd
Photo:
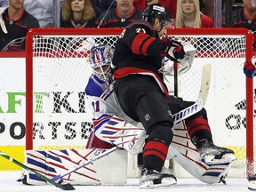
<svg viewBox="0 0 256 192">
<path fill-rule="evenodd" d="M 191 41 L 191 36 L 175 36 Z M 214 143 L 235 151 L 233 165 L 237 176 L 246 168 L 245 129 L 245 36 L 192 36 L 196 57 L 186 74 L 180 75 L 178 95 L 184 100 L 197 99 L 204 64 L 212 64 L 212 78 L 205 108 Z"/>
</svg>

